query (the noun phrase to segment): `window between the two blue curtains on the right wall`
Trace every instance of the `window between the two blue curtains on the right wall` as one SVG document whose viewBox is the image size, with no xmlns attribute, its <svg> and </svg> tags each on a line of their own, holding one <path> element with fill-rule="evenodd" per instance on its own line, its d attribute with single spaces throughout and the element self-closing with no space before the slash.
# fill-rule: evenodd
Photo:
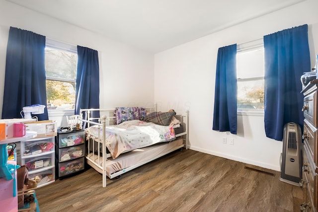
<svg viewBox="0 0 318 212">
<path fill-rule="evenodd" d="M 263 39 L 237 45 L 238 109 L 264 109 Z"/>
</svg>

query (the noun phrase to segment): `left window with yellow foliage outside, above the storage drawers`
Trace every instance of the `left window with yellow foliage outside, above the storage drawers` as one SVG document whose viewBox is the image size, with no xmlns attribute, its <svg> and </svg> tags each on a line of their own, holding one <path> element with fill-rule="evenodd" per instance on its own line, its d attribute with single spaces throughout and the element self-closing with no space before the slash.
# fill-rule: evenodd
<svg viewBox="0 0 318 212">
<path fill-rule="evenodd" d="M 74 109 L 77 47 L 46 39 L 45 70 L 48 110 Z"/>
</svg>

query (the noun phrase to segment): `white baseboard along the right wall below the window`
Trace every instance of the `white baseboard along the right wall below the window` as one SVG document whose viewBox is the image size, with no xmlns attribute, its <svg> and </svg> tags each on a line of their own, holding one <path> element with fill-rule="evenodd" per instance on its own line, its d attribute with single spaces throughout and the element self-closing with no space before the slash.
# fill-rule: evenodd
<svg viewBox="0 0 318 212">
<path fill-rule="evenodd" d="M 280 172 L 280 166 L 276 166 L 276 165 L 273 165 L 273 164 L 264 163 L 264 162 L 260 162 L 260 161 L 256 161 L 256 160 L 250 160 L 250 159 L 243 158 L 243 157 L 237 157 L 237 156 L 230 155 L 230 154 L 224 154 L 222 152 L 210 151 L 210 150 L 206 150 L 206 149 L 195 147 L 195 146 L 190 146 L 189 149 Z"/>
</svg>

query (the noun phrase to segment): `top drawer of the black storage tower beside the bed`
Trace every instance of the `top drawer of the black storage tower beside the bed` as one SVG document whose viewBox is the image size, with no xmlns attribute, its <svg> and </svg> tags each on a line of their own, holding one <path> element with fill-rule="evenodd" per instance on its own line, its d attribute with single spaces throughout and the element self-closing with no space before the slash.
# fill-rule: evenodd
<svg viewBox="0 0 318 212">
<path fill-rule="evenodd" d="M 74 133 L 65 133 L 59 134 L 59 147 L 67 147 L 67 146 L 74 146 L 84 143 L 85 132 L 74 132 Z"/>
</svg>

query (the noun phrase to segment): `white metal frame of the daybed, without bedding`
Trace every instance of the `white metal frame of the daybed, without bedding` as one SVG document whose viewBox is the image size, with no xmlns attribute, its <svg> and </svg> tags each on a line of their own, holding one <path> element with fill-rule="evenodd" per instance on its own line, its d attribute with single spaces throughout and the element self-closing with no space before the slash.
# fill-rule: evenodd
<svg viewBox="0 0 318 212">
<path fill-rule="evenodd" d="M 110 119 L 113 119 L 115 118 L 114 116 L 112 117 L 106 117 L 106 115 L 103 115 L 101 118 L 90 118 L 90 112 L 91 111 L 100 111 L 100 112 L 109 112 L 109 113 L 113 113 L 115 110 L 114 109 L 80 109 L 80 118 L 79 118 L 79 121 L 81 121 L 82 123 L 87 123 L 87 127 L 90 126 L 90 124 L 92 125 L 97 125 L 99 128 L 102 128 L 102 138 L 105 138 L 105 127 L 107 126 L 106 125 L 106 122 L 108 120 L 108 125 L 110 123 Z M 155 107 L 150 107 L 150 108 L 146 108 L 146 110 L 155 110 L 157 111 L 157 105 L 155 105 Z M 87 120 L 83 119 L 82 117 L 82 114 L 83 113 L 86 113 L 87 115 Z M 179 145 L 177 147 L 174 147 L 170 150 L 168 150 L 167 152 L 164 152 L 164 153 L 161 153 L 149 160 L 146 160 L 146 161 L 143 161 L 143 162 L 140 162 L 140 163 L 137 163 L 133 166 L 130 166 L 128 168 L 125 168 L 123 170 L 120 170 L 120 171 L 117 171 L 115 173 L 112 173 L 110 174 L 109 178 L 112 179 L 114 177 L 118 177 L 120 176 L 121 174 L 123 173 L 126 173 L 130 170 L 133 170 L 141 165 L 144 165 L 150 161 L 153 161 L 163 155 L 166 155 L 172 151 L 175 151 L 177 149 L 180 149 L 182 147 L 185 146 L 186 149 L 188 149 L 188 129 L 189 129 L 189 126 L 188 126 L 188 123 L 189 123 L 189 111 L 185 111 L 185 115 L 175 115 L 175 117 L 177 117 L 180 121 L 181 121 L 181 124 L 183 126 L 185 126 L 184 128 L 184 132 L 183 133 L 180 133 L 180 134 L 177 134 L 175 135 L 175 138 L 182 138 L 182 136 L 185 136 L 185 139 L 183 144 L 182 145 Z M 98 120 L 99 123 L 96 123 L 96 122 L 93 122 L 93 120 Z M 101 124 L 100 124 L 101 123 Z M 98 138 L 100 138 L 100 131 L 98 131 Z M 88 154 L 86 155 L 86 159 L 87 159 L 87 164 L 90 165 L 92 168 L 94 168 L 96 171 L 98 171 L 99 173 L 102 174 L 102 178 L 103 178 L 103 181 L 102 181 L 102 184 L 103 184 L 103 187 L 106 187 L 106 178 L 107 178 L 107 175 L 106 175 L 106 160 L 108 157 L 111 157 L 110 153 L 106 153 L 106 142 L 105 142 L 105 139 L 103 139 L 102 141 L 98 140 L 96 141 L 95 137 L 90 137 L 90 135 L 88 135 L 88 138 L 89 139 L 92 139 L 92 146 L 90 146 L 90 142 L 88 142 L 87 146 L 86 146 L 86 149 L 88 150 Z M 97 155 L 94 154 L 94 149 L 95 149 L 95 142 L 97 143 Z M 102 143 L 102 152 L 100 152 L 100 143 Z M 90 153 L 90 147 L 92 147 L 93 151 Z M 102 156 L 100 156 L 100 153 L 102 153 Z M 105 156 L 106 155 L 106 156 Z M 120 157 L 120 156 L 119 156 Z M 97 160 L 97 162 L 96 162 Z"/>
</svg>

